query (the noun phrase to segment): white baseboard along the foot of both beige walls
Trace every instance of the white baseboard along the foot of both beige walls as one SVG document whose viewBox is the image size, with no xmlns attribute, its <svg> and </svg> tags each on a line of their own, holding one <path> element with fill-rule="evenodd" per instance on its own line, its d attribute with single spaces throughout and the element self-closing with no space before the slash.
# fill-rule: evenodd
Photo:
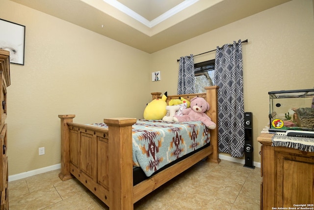
<svg viewBox="0 0 314 210">
<path fill-rule="evenodd" d="M 219 158 L 223 159 L 223 160 L 228 160 L 228 161 L 231 161 L 231 162 L 241 163 L 243 165 L 245 164 L 245 160 L 244 159 L 240 159 L 240 158 L 236 158 L 236 157 L 230 157 L 230 156 L 227 156 L 227 155 L 219 154 Z M 261 168 L 261 163 L 254 162 L 254 166 L 258 167 L 258 168 Z M 31 177 L 31 176 L 34 176 L 34 175 L 37 175 L 37 174 L 46 173 L 46 172 L 57 170 L 57 169 L 60 169 L 60 168 L 61 168 L 61 163 L 55 164 L 55 165 L 52 165 L 52 166 L 47 166 L 47 167 L 40 168 L 40 169 L 35 169 L 35 170 L 32 170 L 32 171 L 23 172 L 21 174 L 11 175 L 11 176 L 9 176 L 8 179 L 9 179 L 9 181 L 21 180 L 21 179 L 24 179 L 26 177 Z"/>
</svg>

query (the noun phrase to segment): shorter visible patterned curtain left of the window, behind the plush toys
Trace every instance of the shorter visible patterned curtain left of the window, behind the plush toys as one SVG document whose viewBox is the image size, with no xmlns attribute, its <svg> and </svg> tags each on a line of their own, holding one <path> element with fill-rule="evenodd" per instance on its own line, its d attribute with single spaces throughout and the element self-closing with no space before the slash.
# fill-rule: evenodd
<svg viewBox="0 0 314 210">
<path fill-rule="evenodd" d="M 193 55 L 179 60 L 178 94 L 195 93 L 195 76 Z"/>
</svg>

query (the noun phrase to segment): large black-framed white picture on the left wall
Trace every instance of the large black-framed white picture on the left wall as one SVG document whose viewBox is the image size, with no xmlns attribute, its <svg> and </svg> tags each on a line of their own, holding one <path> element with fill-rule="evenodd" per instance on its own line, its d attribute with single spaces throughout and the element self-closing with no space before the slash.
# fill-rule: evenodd
<svg viewBox="0 0 314 210">
<path fill-rule="evenodd" d="M 0 49 L 10 51 L 10 62 L 24 65 L 25 26 L 0 19 Z"/>
</svg>

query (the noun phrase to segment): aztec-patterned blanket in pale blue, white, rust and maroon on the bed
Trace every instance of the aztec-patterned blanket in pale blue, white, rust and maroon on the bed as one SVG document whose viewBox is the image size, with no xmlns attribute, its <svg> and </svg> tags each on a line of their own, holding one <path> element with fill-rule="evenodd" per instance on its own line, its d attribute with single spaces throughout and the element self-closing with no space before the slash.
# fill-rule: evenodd
<svg viewBox="0 0 314 210">
<path fill-rule="evenodd" d="M 107 127 L 105 123 L 92 125 Z M 137 120 L 132 126 L 133 166 L 141 167 L 149 177 L 209 141 L 209 130 L 201 121 Z"/>
</svg>

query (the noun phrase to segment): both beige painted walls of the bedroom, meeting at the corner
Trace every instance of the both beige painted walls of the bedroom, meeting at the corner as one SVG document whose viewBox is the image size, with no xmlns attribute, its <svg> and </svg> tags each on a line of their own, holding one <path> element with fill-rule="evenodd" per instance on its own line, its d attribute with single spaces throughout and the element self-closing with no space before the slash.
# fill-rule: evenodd
<svg viewBox="0 0 314 210">
<path fill-rule="evenodd" d="M 233 40 L 249 40 L 242 45 L 244 105 L 254 115 L 254 139 L 268 122 L 268 91 L 314 87 L 313 0 L 290 1 L 151 55 L 12 1 L 0 3 L 1 19 L 26 26 L 25 65 L 11 65 L 8 87 L 9 175 L 60 163 L 58 114 L 76 114 L 82 123 L 142 118 L 150 92 L 176 94 L 177 59 Z M 153 71 L 161 71 L 161 81 L 151 82 Z M 254 147 L 259 162 L 258 142 Z"/>
</svg>

